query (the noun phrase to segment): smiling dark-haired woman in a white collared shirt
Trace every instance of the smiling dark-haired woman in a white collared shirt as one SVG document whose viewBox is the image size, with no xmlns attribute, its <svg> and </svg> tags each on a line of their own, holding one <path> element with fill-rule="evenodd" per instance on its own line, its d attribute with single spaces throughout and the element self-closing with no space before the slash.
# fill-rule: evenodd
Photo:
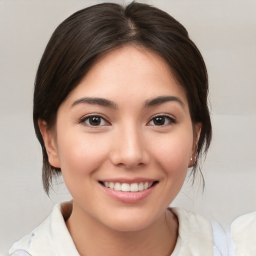
<svg viewBox="0 0 256 256">
<path fill-rule="evenodd" d="M 211 140 L 204 61 L 167 13 L 132 2 L 77 11 L 52 34 L 34 87 L 43 185 L 73 197 L 11 255 L 211 255 L 210 224 L 168 208 Z M 20 250 L 21 249 L 21 250 Z"/>
</svg>

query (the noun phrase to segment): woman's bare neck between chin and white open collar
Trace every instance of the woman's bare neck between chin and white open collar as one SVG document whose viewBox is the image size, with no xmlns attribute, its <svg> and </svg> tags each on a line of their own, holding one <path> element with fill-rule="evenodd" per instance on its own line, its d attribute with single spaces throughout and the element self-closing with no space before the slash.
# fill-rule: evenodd
<svg viewBox="0 0 256 256">
<path fill-rule="evenodd" d="M 168 256 L 176 244 L 178 228 L 176 217 L 166 210 L 143 229 L 114 230 L 84 212 L 81 214 L 75 204 L 66 225 L 81 256 Z"/>
</svg>

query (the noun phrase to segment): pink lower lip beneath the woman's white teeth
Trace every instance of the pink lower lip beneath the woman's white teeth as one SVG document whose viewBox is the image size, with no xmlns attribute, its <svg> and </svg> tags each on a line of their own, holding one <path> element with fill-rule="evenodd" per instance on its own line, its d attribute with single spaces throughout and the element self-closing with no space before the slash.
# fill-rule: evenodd
<svg viewBox="0 0 256 256">
<path fill-rule="evenodd" d="M 101 186 L 107 195 L 111 196 L 112 198 L 118 201 L 127 202 L 127 203 L 136 203 L 148 197 L 152 193 L 156 184 L 154 184 L 153 186 L 145 190 L 137 191 L 137 192 L 117 191 L 117 190 L 105 187 L 103 185 Z"/>
</svg>

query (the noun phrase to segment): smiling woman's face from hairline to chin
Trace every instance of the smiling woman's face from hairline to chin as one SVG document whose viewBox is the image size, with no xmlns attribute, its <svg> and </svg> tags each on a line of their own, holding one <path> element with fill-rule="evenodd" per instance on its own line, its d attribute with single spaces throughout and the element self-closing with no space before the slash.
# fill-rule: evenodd
<svg viewBox="0 0 256 256">
<path fill-rule="evenodd" d="M 195 144 L 183 88 L 157 54 L 134 46 L 93 65 L 47 137 L 74 209 L 116 230 L 142 229 L 165 214 Z"/>
</svg>

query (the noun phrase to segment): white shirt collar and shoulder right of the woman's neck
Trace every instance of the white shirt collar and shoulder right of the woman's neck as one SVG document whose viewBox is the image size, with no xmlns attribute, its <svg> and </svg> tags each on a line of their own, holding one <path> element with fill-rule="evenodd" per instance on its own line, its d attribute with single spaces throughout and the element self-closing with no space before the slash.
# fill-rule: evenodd
<svg viewBox="0 0 256 256">
<path fill-rule="evenodd" d="M 210 222 L 203 216 L 181 208 L 170 208 L 178 219 L 178 238 L 173 255 L 213 255 Z"/>
</svg>

